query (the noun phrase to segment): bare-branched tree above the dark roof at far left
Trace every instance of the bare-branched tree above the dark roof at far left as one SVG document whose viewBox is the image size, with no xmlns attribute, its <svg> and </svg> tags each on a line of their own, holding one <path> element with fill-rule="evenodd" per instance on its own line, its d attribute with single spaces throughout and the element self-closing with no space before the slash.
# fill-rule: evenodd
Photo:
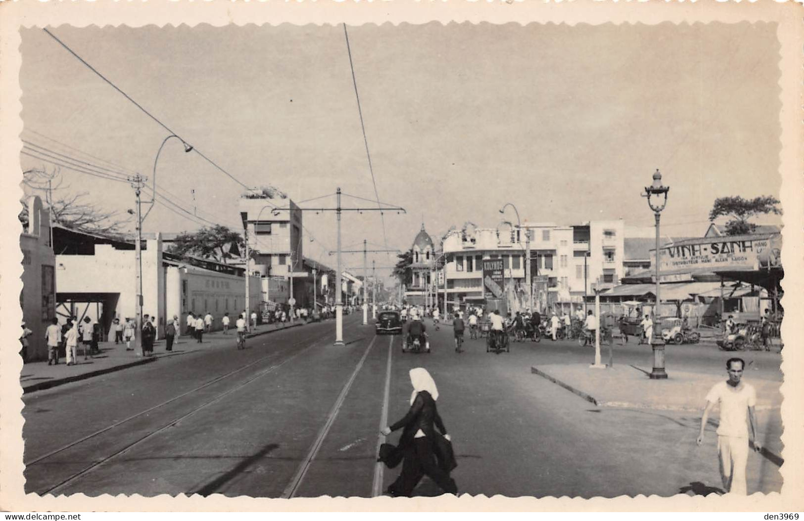
<svg viewBox="0 0 804 521">
<path fill-rule="evenodd" d="M 128 219 L 121 219 L 118 212 L 102 210 L 98 206 L 85 202 L 86 192 L 72 193 L 61 197 L 58 193 L 68 189 L 64 185 L 64 178 L 58 170 L 51 173 L 43 169 L 31 169 L 23 172 L 23 189 L 26 197 L 33 193 L 42 193 L 45 203 L 51 212 L 51 222 L 71 230 L 83 231 L 90 234 L 100 234 L 122 238 L 125 233 L 122 227 Z M 20 201 L 23 210 L 18 214 L 23 228 L 28 226 L 28 208 L 26 201 Z"/>
</svg>

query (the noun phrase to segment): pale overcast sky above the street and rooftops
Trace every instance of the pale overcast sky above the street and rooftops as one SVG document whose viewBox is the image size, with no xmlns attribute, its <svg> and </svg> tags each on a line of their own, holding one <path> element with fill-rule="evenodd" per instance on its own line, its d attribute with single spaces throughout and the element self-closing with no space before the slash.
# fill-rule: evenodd
<svg viewBox="0 0 804 521">
<path fill-rule="evenodd" d="M 375 198 L 343 26 L 51 31 L 246 185 L 275 185 L 295 201 L 338 186 Z M 650 236 L 653 216 L 639 195 L 657 168 L 671 186 L 668 234 L 703 234 L 715 197 L 778 196 L 771 24 L 348 31 L 379 198 L 408 210 L 385 215 L 392 248 L 407 249 L 422 220 L 433 235 L 466 221 L 495 226 L 506 202 L 523 221 L 623 218 L 632 234 Z M 152 177 L 169 132 L 42 30 L 22 35 L 23 137 Z M 62 172 L 70 190 L 90 192 L 100 206 L 133 207 L 129 185 Z M 178 140 L 162 150 L 157 182 L 188 210 L 195 189 L 199 216 L 236 226 L 243 188 Z M 309 204 L 333 206 L 334 197 Z M 306 256 L 334 266 L 323 253 L 335 246 L 334 214 L 307 213 L 304 222 L 316 239 Z M 144 227 L 198 226 L 156 207 Z M 363 238 L 384 243 L 379 214 L 345 214 L 343 245 Z M 362 264 L 360 255 L 345 259 Z"/>
</svg>

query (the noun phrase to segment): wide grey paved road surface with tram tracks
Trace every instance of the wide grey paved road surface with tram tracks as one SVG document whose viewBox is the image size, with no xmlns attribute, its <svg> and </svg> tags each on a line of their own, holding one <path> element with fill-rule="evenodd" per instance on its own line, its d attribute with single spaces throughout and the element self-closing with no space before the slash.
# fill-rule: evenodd
<svg viewBox="0 0 804 521">
<path fill-rule="evenodd" d="M 695 446 L 697 414 L 596 409 L 531 374 L 537 359 L 587 356 L 577 344 L 513 344 L 496 355 L 478 340 L 457 354 L 441 328 L 431 354 L 411 354 L 357 314 L 346 317 L 346 346 L 331 344 L 333 329 L 309 324 L 244 351 L 174 356 L 26 395 L 26 490 L 371 497 L 400 470 L 377 472 L 381 414 L 388 423 L 404 415 L 417 366 L 441 393 L 461 493 L 613 497 L 720 486 L 714 433 Z M 749 492 L 780 488 L 777 468 L 752 454 Z M 425 479 L 416 493 L 440 491 Z"/>
</svg>

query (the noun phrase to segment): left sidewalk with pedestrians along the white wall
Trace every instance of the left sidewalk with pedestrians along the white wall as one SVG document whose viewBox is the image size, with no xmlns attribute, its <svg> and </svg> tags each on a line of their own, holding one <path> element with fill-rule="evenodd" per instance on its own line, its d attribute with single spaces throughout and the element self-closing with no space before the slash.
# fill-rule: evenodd
<svg viewBox="0 0 804 521">
<path fill-rule="evenodd" d="M 285 326 L 285 328 L 277 326 L 277 324 L 262 324 L 257 326 L 256 331 L 249 333 L 246 338 L 266 335 L 277 330 L 297 328 L 303 324 L 302 322 L 297 322 L 293 325 Z M 182 335 L 178 337 L 177 342 L 174 342 L 173 351 L 165 351 L 164 339 L 157 340 L 154 344 L 153 356 L 137 356 L 134 351 L 126 351 L 125 344 L 104 342 L 99 344 L 100 354 L 96 354 L 87 360 L 84 360 L 84 352 L 79 346 L 77 364 L 69 367 L 66 363 L 67 360 L 64 358 L 59 359 L 58 365 L 47 365 L 47 361 L 24 364 L 23 371 L 19 375 L 19 384 L 23 386 L 23 394 L 33 393 L 43 389 L 50 389 L 56 385 L 96 377 L 108 372 L 150 364 L 166 356 L 181 356 L 211 348 L 233 346 L 235 340 L 236 334 L 232 334 L 232 330 L 229 330 L 227 335 L 224 335 L 221 331 L 205 333 L 202 344 L 196 342 L 191 336 Z"/>
</svg>

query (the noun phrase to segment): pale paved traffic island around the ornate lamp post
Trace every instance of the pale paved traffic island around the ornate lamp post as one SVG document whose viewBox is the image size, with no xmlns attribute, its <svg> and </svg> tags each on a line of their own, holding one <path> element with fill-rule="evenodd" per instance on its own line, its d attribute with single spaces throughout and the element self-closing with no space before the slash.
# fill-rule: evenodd
<svg viewBox="0 0 804 521">
<path fill-rule="evenodd" d="M 601 408 L 679 411 L 697 418 L 704 411 L 712 385 L 726 380 L 721 373 L 671 369 L 667 380 L 650 380 L 650 367 L 615 364 L 590 368 L 589 363 L 543 364 L 531 372 L 547 378 Z M 745 381 L 757 389 L 757 423 L 765 457 L 781 465 L 781 381 L 747 370 Z M 693 413 L 692 415 L 688 413 Z M 711 421 L 711 420 L 710 420 Z"/>
</svg>

